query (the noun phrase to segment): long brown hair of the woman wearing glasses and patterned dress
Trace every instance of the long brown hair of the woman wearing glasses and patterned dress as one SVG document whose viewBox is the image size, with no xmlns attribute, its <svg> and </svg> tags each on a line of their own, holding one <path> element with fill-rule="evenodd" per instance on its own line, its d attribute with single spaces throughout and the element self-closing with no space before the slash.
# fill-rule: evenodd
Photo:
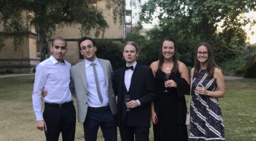
<svg viewBox="0 0 256 141">
<path fill-rule="evenodd" d="M 194 76 L 196 77 L 198 75 L 198 73 L 199 73 L 199 70 L 200 70 L 200 62 L 197 59 L 197 50 L 202 45 L 207 48 L 207 52 L 208 52 L 208 59 L 207 59 L 207 73 L 208 73 L 208 77 L 213 77 L 213 75 L 214 75 L 214 68 L 215 67 L 220 68 L 220 66 L 218 66 L 215 63 L 215 61 L 214 61 L 212 46 L 209 43 L 205 42 L 205 41 L 199 43 L 196 46 Z"/>
</svg>

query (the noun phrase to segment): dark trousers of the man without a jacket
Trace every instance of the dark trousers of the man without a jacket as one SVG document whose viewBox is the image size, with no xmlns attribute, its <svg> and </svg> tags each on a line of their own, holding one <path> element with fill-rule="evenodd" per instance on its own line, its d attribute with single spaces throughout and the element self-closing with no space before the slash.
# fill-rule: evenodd
<svg viewBox="0 0 256 141">
<path fill-rule="evenodd" d="M 58 141 L 60 133 L 63 141 L 75 139 L 76 109 L 73 103 L 65 107 L 45 103 L 43 115 L 47 126 L 47 131 L 45 131 L 47 141 Z"/>
</svg>

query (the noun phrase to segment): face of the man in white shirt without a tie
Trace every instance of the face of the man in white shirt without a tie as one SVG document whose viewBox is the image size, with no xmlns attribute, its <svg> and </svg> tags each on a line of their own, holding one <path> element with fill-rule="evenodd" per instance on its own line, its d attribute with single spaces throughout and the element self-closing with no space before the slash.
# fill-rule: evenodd
<svg viewBox="0 0 256 141">
<path fill-rule="evenodd" d="M 68 49 L 67 49 L 67 44 L 65 41 L 55 40 L 54 43 L 52 44 L 50 50 L 52 52 L 52 56 L 57 61 L 61 62 Z"/>
</svg>

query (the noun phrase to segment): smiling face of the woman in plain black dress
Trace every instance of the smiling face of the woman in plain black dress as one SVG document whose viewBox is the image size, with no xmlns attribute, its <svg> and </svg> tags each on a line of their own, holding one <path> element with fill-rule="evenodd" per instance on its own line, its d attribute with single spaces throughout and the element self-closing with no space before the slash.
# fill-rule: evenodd
<svg viewBox="0 0 256 141">
<path fill-rule="evenodd" d="M 175 45 L 173 41 L 164 41 L 162 45 L 162 54 L 164 59 L 171 59 L 175 53 Z"/>
</svg>

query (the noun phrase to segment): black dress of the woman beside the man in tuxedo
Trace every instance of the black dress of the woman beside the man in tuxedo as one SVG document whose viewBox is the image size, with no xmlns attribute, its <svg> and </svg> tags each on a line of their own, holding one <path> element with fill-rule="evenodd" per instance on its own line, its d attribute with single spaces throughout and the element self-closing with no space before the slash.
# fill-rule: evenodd
<svg viewBox="0 0 256 141">
<path fill-rule="evenodd" d="M 154 104 L 159 121 L 156 125 L 153 125 L 154 141 L 188 140 L 187 128 L 184 123 L 184 119 L 186 119 L 186 117 L 184 117 L 186 116 L 186 102 L 184 95 L 178 96 L 177 89 L 173 87 L 168 87 L 169 92 L 164 92 L 166 89 L 164 87 L 165 75 L 166 74 L 161 69 L 158 69 L 156 72 L 157 98 L 156 101 L 154 101 Z M 170 79 L 178 80 L 178 78 L 180 79 L 179 71 L 177 71 L 177 74 L 170 74 Z M 181 83 L 177 81 L 176 83 L 177 85 L 183 85 L 182 83 L 185 82 L 186 80 Z M 182 108 L 180 108 L 179 105 L 181 105 Z M 182 117 L 179 116 L 179 112 L 182 112 Z"/>
</svg>

